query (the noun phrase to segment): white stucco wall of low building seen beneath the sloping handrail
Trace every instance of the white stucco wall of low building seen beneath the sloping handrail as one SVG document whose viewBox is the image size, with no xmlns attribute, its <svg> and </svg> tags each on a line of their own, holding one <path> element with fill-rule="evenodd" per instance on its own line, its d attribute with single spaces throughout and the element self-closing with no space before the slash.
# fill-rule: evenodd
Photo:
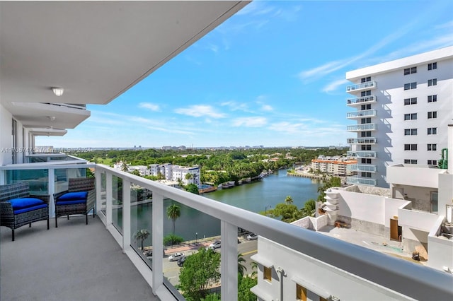
<svg viewBox="0 0 453 301">
<path fill-rule="evenodd" d="M 263 279 L 263 266 L 258 264 L 258 285 L 253 289 L 267 300 L 280 300 L 278 267 L 283 268 L 286 273 L 283 277 L 283 300 L 296 300 L 294 278 L 302 279 L 313 288 L 311 291 L 306 287 L 310 300 L 319 300 L 314 290 L 328 293 L 339 300 L 411 300 L 263 237 L 258 237 L 258 255 L 273 264 L 270 282 Z M 258 297 L 258 300 L 264 299 Z"/>
</svg>

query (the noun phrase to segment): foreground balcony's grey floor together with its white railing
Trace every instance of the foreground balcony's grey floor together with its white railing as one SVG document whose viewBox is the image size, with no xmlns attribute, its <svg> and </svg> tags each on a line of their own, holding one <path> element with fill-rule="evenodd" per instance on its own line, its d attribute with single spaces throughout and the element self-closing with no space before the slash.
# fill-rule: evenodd
<svg viewBox="0 0 453 301">
<path fill-rule="evenodd" d="M 65 170 L 69 177 L 70 173 L 76 175 L 80 167 L 81 165 L 47 166 L 49 188 L 46 192 L 51 194 L 58 190 L 55 187 L 56 170 Z M 80 220 L 71 218 L 65 221 L 66 225 L 61 225 L 58 229 L 51 228 L 47 231 L 44 225 L 37 224 L 31 229 L 24 227 L 21 228 L 21 232 L 18 230 L 16 242 L 2 240 L 1 256 L 8 254 L 9 262 L 17 261 L 12 272 L 11 269 L 4 268 L 7 264 L 10 267 L 11 264 L 1 260 L 2 297 L 10 300 L 21 299 L 23 296 L 18 295 L 21 290 L 16 289 L 14 283 L 24 283 L 24 280 L 42 277 L 39 285 L 30 285 L 30 288 L 23 285 L 29 292 L 27 296 L 37 296 L 38 299 L 40 299 L 39 296 L 44 296 L 42 299 L 48 297 L 57 300 L 144 300 L 153 297 L 152 291 L 152 294 L 157 295 L 160 300 L 182 300 L 178 291 L 166 279 L 164 261 L 168 261 L 163 256 L 159 256 L 164 252 L 163 225 L 164 220 L 168 220 L 164 203 L 171 201 L 219 220 L 222 240 L 221 294 L 227 296 L 228 300 L 237 300 L 238 227 L 310 256 L 314 261 L 323 261 L 333 266 L 336 273 L 344 272 L 362 277 L 369 285 L 378 285 L 379 289 L 394 290 L 418 300 L 428 300 L 432 295 L 443 300 L 453 298 L 453 293 L 448 286 L 451 276 L 446 273 L 294 227 L 294 225 L 203 196 L 166 187 L 105 165 L 86 164 L 82 167 L 96 169 L 96 213 L 102 224 L 96 218 L 89 219 L 88 226 L 84 223 L 79 225 Z M 38 169 L 42 166 L 33 168 Z M 76 170 L 71 171 L 73 168 Z M 0 173 L 3 173 L 0 179 L 6 182 L 10 181 L 8 170 L 11 170 L 11 167 L 0 167 Z M 64 182 L 64 179 L 61 181 Z M 368 179 L 368 181 L 374 180 Z M 355 184 L 365 184 L 361 182 L 362 179 L 357 179 Z M 147 201 L 138 201 L 137 194 L 134 194 L 134 187 L 141 187 L 151 193 L 147 196 L 152 204 L 151 215 L 144 220 L 147 225 L 134 223 L 139 214 L 137 210 L 139 203 L 148 206 Z M 52 208 L 50 210 L 52 212 Z M 151 229 L 153 248 L 151 260 L 144 258 L 137 247 L 137 242 L 132 238 L 137 227 Z M 103 230 L 105 228 L 108 232 Z M 67 235 L 69 231 L 71 235 Z M 2 228 L 2 238 L 11 233 L 7 228 L 6 235 L 4 232 Z M 113 240 L 112 237 L 105 237 L 109 232 Z M 81 244 L 81 242 L 87 243 Z M 24 258 L 27 260 L 23 260 Z M 130 259 L 137 270 L 132 268 L 132 271 L 130 265 L 124 265 L 122 260 L 126 258 Z M 33 265 L 33 268 L 30 268 L 27 262 L 36 263 L 36 266 Z M 379 264 L 377 265 L 376 262 Z M 68 273 L 67 266 L 71 266 L 71 273 Z M 45 274 L 42 274 L 43 270 L 46 271 Z M 137 277 L 137 271 L 143 278 Z M 369 271 L 373 272 L 369 273 Z M 73 283 L 78 285 L 72 285 Z M 146 285 L 151 288 L 146 288 Z M 62 289 L 55 290 L 55 287 Z M 143 297 L 142 294 L 147 297 Z"/>
</svg>

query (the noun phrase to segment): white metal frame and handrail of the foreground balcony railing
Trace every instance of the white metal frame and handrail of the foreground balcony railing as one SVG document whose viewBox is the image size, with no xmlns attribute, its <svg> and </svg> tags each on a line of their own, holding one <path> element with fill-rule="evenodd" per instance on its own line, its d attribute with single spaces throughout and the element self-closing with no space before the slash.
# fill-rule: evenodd
<svg viewBox="0 0 453 301">
<path fill-rule="evenodd" d="M 55 165 L 45 167 L 49 175 L 49 190 L 47 192 L 51 194 L 57 190 L 55 187 L 56 169 L 64 168 L 69 172 L 72 168 L 79 169 L 80 167 L 82 166 Z M 320 235 L 311 230 L 302 229 L 187 191 L 167 187 L 127 172 L 114 170 L 105 165 L 84 165 L 83 167 L 96 167 L 96 212 L 99 218 L 117 243 L 120 244 L 123 252 L 142 273 L 145 281 L 151 285 L 153 293 L 158 295 L 161 300 L 176 300 L 174 295 L 168 293 L 169 290 L 174 290 L 174 288 L 168 288 L 168 283 L 164 281 L 164 257 L 159 256 L 164 252 L 163 224 L 164 220 L 167 220 L 164 201 L 168 200 L 176 201 L 183 206 L 188 206 L 219 220 L 222 240 L 222 248 L 220 249 L 221 295 L 228 296 L 229 300 L 237 300 L 238 293 L 238 227 L 255 232 L 296 252 L 311 256 L 314 260 L 322 261 L 338 270 L 362 277 L 370 285 L 376 283 L 381 287 L 417 300 L 429 300 L 432 296 L 436 296 L 438 300 L 453 299 L 450 286 L 451 276 L 446 273 L 374 252 L 333 237 Z M 8 181 L 8 170 L 11 170 L 11 167 L 0 167 L 0 172 L 4 172 L 4 175 L 0 176 L 0 180 L 6 179 Z M 368 181 L 369 184 L 375 184 L 375 180 L 368 179 Z M 362 179 L 355 180 L 355 184 L 360 182 L 362 182 Z M 133 230 L 137 228 L 137 225 L 133 223 L 133 217 L 137 214 L 137 210 L 134 210 L 136 201 L 131 197 L 132 184 L 134 184 L 134 187 L 139 186 L 146 189 L 148 193 L 151 192 L 152 213 L 147 220 L 151 228 L 153 248 L 151 264 L 143 258 L 142 254 L 139 254 L 140 252 L 137 252 L 137 247 L 132 238 Z M 119 202 L 119 199 L 121 199 L 121 202 Z M 139 225 L 139 227 L 142 227 L 142 225 Z M 376 264 L 377 262 L 379 264 Z M 372 273 L 369 271 L 372 271 Z M 48 285 L 49 288 L 52 287 L 52 283 L 48 283 Z"/>
</svg>

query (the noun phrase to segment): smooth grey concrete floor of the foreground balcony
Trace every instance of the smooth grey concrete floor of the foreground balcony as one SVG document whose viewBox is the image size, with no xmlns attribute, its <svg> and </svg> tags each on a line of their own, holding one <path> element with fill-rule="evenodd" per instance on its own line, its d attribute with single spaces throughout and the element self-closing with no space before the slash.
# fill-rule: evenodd
<svg viewBox="0 0 453 301">
<path fill-rule="evenodd" d="M 99 218 L 0 228 L 1 300 L 159 300 Z"/>
</svg>

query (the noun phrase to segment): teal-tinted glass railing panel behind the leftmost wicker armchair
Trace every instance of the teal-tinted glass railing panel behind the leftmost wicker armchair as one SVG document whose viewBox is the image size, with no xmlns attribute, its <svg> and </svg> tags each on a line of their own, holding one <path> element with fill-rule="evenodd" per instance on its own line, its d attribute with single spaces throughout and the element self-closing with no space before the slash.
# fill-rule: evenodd
<svg viewBox="0 0 453 301">
<path fill-rule="evenodd" d="M 49 170 L 6 170 L 6 184 L 28 182 L 30 194 L 49 194 Z"/>
</svg>

